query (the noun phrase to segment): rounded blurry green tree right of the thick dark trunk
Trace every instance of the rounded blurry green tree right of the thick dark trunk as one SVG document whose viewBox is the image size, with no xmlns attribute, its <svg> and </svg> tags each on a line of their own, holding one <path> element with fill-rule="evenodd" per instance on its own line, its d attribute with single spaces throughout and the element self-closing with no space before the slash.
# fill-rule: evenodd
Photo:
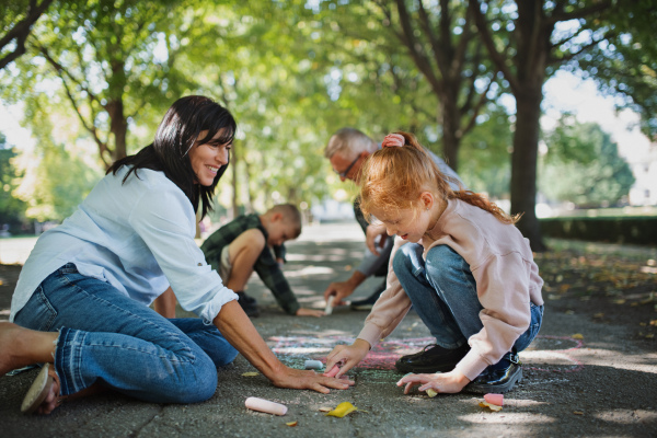
<svg viewBox="0 0 657 438">
<path fill-rule="evenodd" d="M 539 185 L 548 198 L 608 207 L 630 193 L 632 170 L 599 125 L 572 123 L 566 116 L 545 142 Z"/>
</svg>

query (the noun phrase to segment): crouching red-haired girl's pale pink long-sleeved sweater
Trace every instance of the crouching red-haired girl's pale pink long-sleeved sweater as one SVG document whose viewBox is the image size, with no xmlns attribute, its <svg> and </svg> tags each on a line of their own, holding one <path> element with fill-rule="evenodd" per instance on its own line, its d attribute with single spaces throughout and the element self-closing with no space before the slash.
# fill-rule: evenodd
<svg viewBox="0 0 657 438">
<path fill-rule="evenodd" d="M 411 309 L 393 269 L 395 251 L 405 243 L 395 240 L 390 255 L 388 288 L 365 321 L 359 338 L 374 345 L 388 336 Z M 487 366 L 497 364 L 529 327 L 530 301 L 543 304 L 543 280 L 533 261 L 529 241 L 515 226 L 505 224 L 489 212 L 460 199 L 449 200 L 436 226 L 420 242 L 424 257 L 436 245 L 449 245 L 470 265 L 483 307 L 484 327 L 470 336 L 471 350 L 457 365 L 470 380 Z"/>
</svg>

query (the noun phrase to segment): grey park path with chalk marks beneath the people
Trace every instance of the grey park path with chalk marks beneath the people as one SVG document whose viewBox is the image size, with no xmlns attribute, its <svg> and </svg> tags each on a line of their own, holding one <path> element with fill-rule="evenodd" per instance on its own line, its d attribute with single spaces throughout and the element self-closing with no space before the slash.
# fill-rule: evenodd
<svg viewBox="0 0 657 438">
<path fill-rule="evenodd" d="M 302 306 L 323 309 L 330 281 L 346 279 L 362 254 L 354 223 L 307 227 L 288 244 L 288 276 Z M 357 290 L 369 293 L 369 279 Z M 337 308 L 322 319 L 283 313 L 257 278 L 249 293 L 263 304 L 255 326 L 278 357 L 301 368 L 338 343 L 349 343 L 367 313 Z M 187 315 L 178 310 L 178 316 Z M 19 408 L 36 371 L 0 378 L 2 437 L 654 437 L 657 436 L 657 353 L 654 343 L 625 336 L 609 325 L 546 306 L 540 337 L 521 353 L 525 379 L 505 396 L 500 412 L 479 405 L 472 394 L 404 395 L 392 365 L 402 354 L 431 342 L 415 313 L 350 372 L 357 384 L 324 395 L 277 389 L 241 356 L 220 370 L 215 395 L 189 405 L 153 404 L 118 394 L 65 403 L 49 416 L 23 416 Z M 581 335 L 573 337 L 573 335 Z M 285 416 L 244 407 L 247 396 L 283 403 Z M 350 402 L 358 412 L 327 417 L 322 407 Z M 287 426 L 297 422 L 296 427 Z"/>
</svg>

